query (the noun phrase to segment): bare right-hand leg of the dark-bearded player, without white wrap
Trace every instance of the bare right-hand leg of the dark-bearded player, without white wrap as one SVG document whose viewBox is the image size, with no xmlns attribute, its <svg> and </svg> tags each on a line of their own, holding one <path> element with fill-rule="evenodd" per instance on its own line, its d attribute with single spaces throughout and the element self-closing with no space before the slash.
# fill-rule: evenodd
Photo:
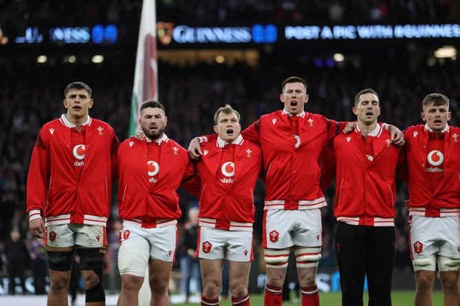
<svg viewBox="0 0 460 306">
<path fill-rule="evenodd" d="M 151 289 L 151 306 L 168 306 L 168 285 L 171 278 L 173 262 L 149 260 L 149 284 Z"/>
</svg>

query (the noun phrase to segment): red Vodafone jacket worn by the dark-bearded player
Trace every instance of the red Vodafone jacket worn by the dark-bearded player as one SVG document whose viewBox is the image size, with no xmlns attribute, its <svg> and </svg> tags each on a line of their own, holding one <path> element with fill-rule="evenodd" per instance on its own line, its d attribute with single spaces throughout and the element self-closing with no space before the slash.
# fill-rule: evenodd
<svg viewBox="0 0 460 306">
<path fill-rule="evenodd" d="M 153 146 L 160 160 L 149 161 L 148 146 Z M 118 149 L 120 218 L 142 228 L 176 223 L 182 215 L 176 190 L 194 174 L 186 149 L 166 135 L 161 145 L 133 137 L 124 140 Z"/>
</svg>

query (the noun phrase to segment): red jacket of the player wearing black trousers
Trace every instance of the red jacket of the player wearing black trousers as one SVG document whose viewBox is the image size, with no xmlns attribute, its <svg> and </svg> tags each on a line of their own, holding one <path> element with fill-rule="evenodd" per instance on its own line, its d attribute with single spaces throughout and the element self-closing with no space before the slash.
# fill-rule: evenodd
<svg viewBox="0 0 460 306">
<path fill-rule="evenodd" d="M 395 174 L 401 148 L 391 144 L 390 132 L 380 125 L 367 136 L 367 142 L 373 143 L 372 156 L 366 156 L 359 127 L 331 142 L 337 177 L 334 215 L 337 221 L 357 226 L 394 226 Z"/>
</svg>

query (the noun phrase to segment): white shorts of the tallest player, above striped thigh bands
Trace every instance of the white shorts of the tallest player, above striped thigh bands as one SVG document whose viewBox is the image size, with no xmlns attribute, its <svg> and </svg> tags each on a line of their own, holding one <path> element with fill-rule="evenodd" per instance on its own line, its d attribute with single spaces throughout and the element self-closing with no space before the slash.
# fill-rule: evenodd
<svg viewBox="0 0 460 306">
<path fill-rule="evenodd" d="M 320 209 L 269 209 L 263 215 L 263 248 L 285 249 L 293 245 L 320 247 Z"/>
</svg>

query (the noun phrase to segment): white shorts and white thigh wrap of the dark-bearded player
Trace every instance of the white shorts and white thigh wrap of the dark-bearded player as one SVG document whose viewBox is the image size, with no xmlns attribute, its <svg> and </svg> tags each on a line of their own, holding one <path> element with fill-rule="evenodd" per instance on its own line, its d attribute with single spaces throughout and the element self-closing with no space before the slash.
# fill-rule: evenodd
<svg viewBox="0 0 460 306">
<path fill-rule="evenodd" d="M 173 262 L 177 241 L 177 225 L 141 228 L 124 222 L 120 231 L 118 270 L 120 274 L 145 276 L 149 259 Z"/>
</svg>

